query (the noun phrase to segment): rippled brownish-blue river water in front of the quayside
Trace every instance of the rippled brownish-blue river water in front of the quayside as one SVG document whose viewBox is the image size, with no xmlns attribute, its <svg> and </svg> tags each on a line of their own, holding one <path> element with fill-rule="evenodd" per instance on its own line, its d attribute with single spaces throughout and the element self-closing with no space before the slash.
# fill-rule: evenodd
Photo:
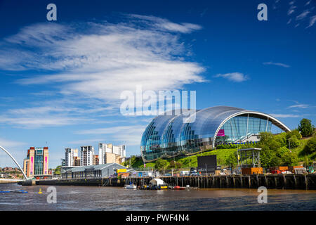
<svg viewBox="0 0 316 225">
<path fill-rule="evenodd" d="M 41 188 L 42 194 L 39 194 Z M 0 210 L 316 210 L 316 191 L 268 190 L 259 204 L 256 189 L 126 190 L 117 187 L 55 186 L 57 203 L 47 203 L 48 186 L 0 184 Z"/>
</svg>

